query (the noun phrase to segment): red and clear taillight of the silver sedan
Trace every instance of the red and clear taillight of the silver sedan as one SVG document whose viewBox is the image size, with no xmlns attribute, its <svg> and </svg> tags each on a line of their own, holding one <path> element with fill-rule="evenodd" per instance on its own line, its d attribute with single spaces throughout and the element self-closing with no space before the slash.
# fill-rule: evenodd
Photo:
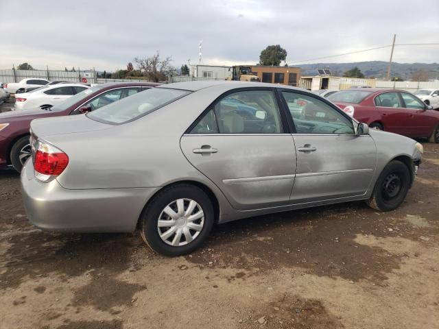
<svg viewBox="0 0 439 329">
<path fill-rule="evenodd" d="M 33 143 L 32 153 L 35 177 L 41 182 L 48 182 L 60 175 L 69 164 L 67 154 L 43 141 L 37 140 Z"/>
</svg>

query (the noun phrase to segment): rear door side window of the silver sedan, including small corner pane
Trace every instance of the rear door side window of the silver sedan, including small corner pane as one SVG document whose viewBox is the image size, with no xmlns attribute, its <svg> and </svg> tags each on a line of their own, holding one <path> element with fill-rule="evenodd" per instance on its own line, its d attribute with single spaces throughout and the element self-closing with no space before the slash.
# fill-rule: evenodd
<svg viewBox="0 0 439 329">
<path fill-rule="evenodd" d="M 191 134 L 280 132 L 281 117 L 270 90 L 245 90 L 226 95 L 191 130 Z"/>
</svg>

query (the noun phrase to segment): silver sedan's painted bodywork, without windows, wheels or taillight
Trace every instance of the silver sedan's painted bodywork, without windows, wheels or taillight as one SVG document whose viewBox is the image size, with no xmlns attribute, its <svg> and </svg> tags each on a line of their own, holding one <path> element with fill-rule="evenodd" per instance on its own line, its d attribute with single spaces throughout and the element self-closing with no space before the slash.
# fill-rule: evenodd
<svg viewBox="0 0 439 329">
<path fill-rule="evenodd" d="M 251 82 L 160 86 L 193 93 L 122 125 L 84 115 L 32 121 L 34 134 L 62 149 L 69 164 L 56 180 L 40 183 L 33 176 L 32 161 L 26 162 L 21 182 L 29 218 L 49 229 L 127 232 L 134 230 L 145 204 L 163 186 L 196 182 L 215 195 L 218 221 L 223 223 L 367 199 L 385 164 L 398 156 L 416 156 L 412 139 L 375 130 L 368 136 L 185 134 L 223 93 L 262 86 L 279 87 Z M 296 151 L 305 144 L 316 151 Z M 218 152 L 194 154 L 202 145 Z M 86 221 L 75 223 L 78 215 Z"/>
</svg>

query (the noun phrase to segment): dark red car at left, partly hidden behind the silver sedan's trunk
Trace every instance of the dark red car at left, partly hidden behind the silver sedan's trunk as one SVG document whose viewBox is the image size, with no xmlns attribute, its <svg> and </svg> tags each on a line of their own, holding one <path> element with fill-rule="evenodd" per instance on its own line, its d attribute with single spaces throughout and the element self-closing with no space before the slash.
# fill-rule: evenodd
<svg viewBox="0 0 439 329">
<path fill-rule="evenodd" d="M 0 113 L 0 169 L 14 167 L 21 171 L 31 155 L 30 121 L 45 117 L 83 114 L 159 84 L 146 82 L 112 82 L 99 84 L 78 93 L 49 110 L 20 110 Z"/>
</svg>

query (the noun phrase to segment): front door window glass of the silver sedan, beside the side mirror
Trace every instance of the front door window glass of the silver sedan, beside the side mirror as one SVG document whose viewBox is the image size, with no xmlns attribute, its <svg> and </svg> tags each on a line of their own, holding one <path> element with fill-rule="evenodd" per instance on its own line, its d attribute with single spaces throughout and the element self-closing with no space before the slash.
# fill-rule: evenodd
<svg viewBox="0 0 439 329">
<path fill-rule="evenodd" d="M 355 134 L 353 121 L 320 99 L 283 91 L 297 134 Z"/>
</svg>

